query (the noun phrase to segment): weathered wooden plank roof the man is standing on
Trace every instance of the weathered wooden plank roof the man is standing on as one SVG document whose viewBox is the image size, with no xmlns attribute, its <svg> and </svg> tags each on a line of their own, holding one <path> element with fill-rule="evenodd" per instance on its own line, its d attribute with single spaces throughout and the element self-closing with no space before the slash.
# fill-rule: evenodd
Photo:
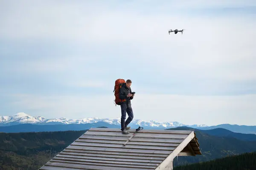
<svg viewBox="0 0 256 170">
<path fill-rule="evenodd" d="M 162 170 L 176 156 L 201 155 L 192 130 L 91 128 L 39 170 Z"/>
</svg>

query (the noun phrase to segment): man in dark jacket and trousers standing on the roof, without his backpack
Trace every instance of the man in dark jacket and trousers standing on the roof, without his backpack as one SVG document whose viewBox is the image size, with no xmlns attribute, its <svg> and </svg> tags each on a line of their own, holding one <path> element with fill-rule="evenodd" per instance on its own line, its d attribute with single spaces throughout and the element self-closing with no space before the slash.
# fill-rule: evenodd
<svg viewBox="0 0 256 170">
<path fill-rule="evenodd" d="M 127 127 L 127 125 L 132 121 L 134 115 L 131 108 L 131 100 L 134 98 L 134 94 L 131 94 L 131 80 L 127 80 L 119 90 L 119 98 L 125 99 L 125 101 L 121 102 L 121 130 L 122 134 L 129 134 L 130 132 L 125 131 L 131 129 L 131 127 Z M 126 112 L 128 114 L 128 119 L 125 121 Z"/>
</svg>

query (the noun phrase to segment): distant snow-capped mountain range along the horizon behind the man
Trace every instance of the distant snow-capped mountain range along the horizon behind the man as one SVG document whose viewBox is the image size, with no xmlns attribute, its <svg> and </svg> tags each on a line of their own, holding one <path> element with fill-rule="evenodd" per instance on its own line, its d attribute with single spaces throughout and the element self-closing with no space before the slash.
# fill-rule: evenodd
<svg viewBox="0 0 256 170">
<path fill-rule="evenodd" d="M 96 122 L 105 122 L 108 124 L 120 125 L 120 118 L 83 118 L 83 119 L 67 119 L 67 118 L 54 118 L 47 119 L 41 116 L 30 116 L 26 113 L 20 112 L 12 116 L 1 116 L 0 117 L 0 126 L 14 125 L 14 124 L 88 124 Z M 185 125 L 179 122 L 157 122 L 157 121 L 143 121 L 139 119 L 134 119 L 131 122 L 131 125 L 139 125 L 143 127 L 152 127 L 152 128 L 168 128 L 168 127 L 208 127 L 205 124 L 201 125 Z"/>
</svg>

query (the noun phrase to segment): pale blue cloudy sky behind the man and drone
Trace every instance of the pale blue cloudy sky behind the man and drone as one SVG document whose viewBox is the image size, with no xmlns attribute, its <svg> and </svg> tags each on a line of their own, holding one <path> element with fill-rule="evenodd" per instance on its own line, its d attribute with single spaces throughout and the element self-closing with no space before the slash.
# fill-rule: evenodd
<svg viewBox="0 0 256 170">
<path fill-rule="evenodd" d="M 123 78 L 134 119 L 256 125 L 255 18 L 255 0 L 0 0 L 0 115 L 119 118 Z"/>
</svg>

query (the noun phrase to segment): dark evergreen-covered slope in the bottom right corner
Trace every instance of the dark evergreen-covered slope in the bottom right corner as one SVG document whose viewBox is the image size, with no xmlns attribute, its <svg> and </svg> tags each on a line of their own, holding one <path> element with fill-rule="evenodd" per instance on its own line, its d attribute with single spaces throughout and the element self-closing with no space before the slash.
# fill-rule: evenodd
<svg viewBox="0 0 256 170">
<path fill-rule="evenodd" d="M 174 170 L 256 170 L 256 152 L 174 167 Z"/>
</svg>

